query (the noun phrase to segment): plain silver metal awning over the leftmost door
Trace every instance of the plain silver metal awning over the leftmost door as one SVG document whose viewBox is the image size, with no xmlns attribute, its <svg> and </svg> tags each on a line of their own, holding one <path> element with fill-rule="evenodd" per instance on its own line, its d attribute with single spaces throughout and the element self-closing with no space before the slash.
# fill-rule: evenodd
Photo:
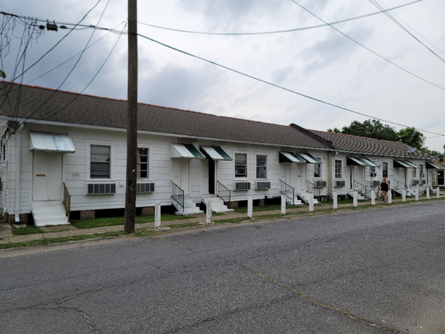
<svg viewBox="0 0 445 334">
<path fill-rule="evenodd" d="M 76 149 L 68 133 L 29 131 L 29 149 L 34 151 L 75 153 Z"/>
</svg>

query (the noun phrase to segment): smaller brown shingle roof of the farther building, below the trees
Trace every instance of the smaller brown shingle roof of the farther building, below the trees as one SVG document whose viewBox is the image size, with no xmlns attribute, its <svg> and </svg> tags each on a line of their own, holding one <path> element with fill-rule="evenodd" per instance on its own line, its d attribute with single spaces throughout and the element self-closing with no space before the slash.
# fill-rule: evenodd
<svg viewBox="0 0 445 334">
<path fill-rule="evenodd" d="M 350 151 L 357 153 L 392 155 L 398 157 L 416 157 L 433 158 L 432 155 L 416 150 L 414 153 L 408 153 L 410 146 L 403 142 L 390 142 L 387 140 L 378 140 L 374 138 L 365 138 L 342 133 L 325 132 L 318 130 L 309 130 L 312 133 L 332 142 L 334 148 L 338 151 Z"/>
</svg>

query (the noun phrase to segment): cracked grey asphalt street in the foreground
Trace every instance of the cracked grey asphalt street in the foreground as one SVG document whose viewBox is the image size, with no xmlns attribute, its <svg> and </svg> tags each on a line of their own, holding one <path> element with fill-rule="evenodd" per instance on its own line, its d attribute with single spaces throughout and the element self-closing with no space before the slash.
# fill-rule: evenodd
<svg viewBox="0 0 445 334">
<path fill-rule="evenodd" d="M 445 333 L 445 205 L 0 251 L 0 333 Z"/>
</svg>

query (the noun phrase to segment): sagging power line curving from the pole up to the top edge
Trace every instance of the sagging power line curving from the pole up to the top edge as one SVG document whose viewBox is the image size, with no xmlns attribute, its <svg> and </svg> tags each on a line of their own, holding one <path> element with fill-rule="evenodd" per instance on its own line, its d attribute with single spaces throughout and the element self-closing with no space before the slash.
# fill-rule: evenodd
<svg viewBox="0 0 445 334">
<path fill-rule="evenodd" d="M 142 23 L 142 22 L 138 22 L 138 24 L 140 24 L 140 25 L 147 25 L 149 27 L 153 27 L 153 28 L 157 28 L 157 29 L 165 29 L 165 30 L 170 30 L 170 31 L 177 31 L 177 32 L 183 32 L 183 33 L 188 33 L 188 34 L 201 34 L 201 35 L 244 36 L 244 35 L 282 34 L 282 33 L 286 33 L 286 32 L 314 29 L 314 28 L 319 28 L 319 27 L 326 27 L 327 25 L 337 25 L 339 23 L 344 23 L 344 22 L 348 22 L 348 21 L 354 21 L 354 20 L 358 20 L 359 18 L 365 18 L 365 17 L 368 17 L 368 16 L 381 14 L 383 12 L 387 12 L 387 11 L 390 11 L 390 10 L 395 10 L 395 9 L 398 9 L 398 8 L 402 8 L 402 7 L 405 7 L 407 5 L 411 5 L 411 4 L 419 2 L 419 1 L 422 1 L 422 0 L 416 0 L 416 1 L 413 1 L 413 2 L 410 2 L 410 3 L 405 3 L 404 5 L 399 5 L 397 7 L 389 8 L 387 10 L 380 10 L 379 12 L 373 12 L 373 13 L 370 13 L 370 14 L 364 14 L 364 15 L 361 15 L 361 16 L 355 16 L 353 18 L 345 18 L 344 20 L 335 21 L 335 22 L 331 22 L 331 23 L 325 23 L 323 25 L 312 25 L 310 27 L 295 28 L 295 29 L 285 29 L 285 30 L 277 30 L 277 31 L 243 32 L 243 33 L 223 33 L 223 32 L 221 32 L 221 33 L 218 33 L 218 32 L 203 32 L 203 31 L 190 31 L 190 30 L 182 30 L 182 29 L 173 29 L 173 28 L 160 27 L 159 25 L 151 25 L 149 23 Z"/>
</svg>

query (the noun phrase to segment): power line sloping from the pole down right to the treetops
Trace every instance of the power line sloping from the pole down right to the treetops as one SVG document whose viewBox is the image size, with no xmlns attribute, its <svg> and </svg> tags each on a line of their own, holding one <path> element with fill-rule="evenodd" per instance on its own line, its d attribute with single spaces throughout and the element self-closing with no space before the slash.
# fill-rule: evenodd
<svg viewBox="0 0 445 334">
<path fill-rule="evenodd" d="M 335 105 L 335 104 L 333 104 L 333 103 L 329 103 L 329 102 L 327 102 L 327 101 L 323 101 L 323 100 L 320 100 L 320 99 L 316 99 L 315 97 L 310 97 L 309 95 L 305 95 L 305 94 L 302 94 L 302 93 L 300 93 L 300 92 L 296 92 L 295 90 L 290 90 L 290 89 L 288 89 L 288 88 L 284 88 L 284 87 L 282 87 L 282 86 L 278 86 L 278 85 L 276 85 L 276 84 L 272 84 L 272 83 L 269 82 L 269 81 L 266 81 L 266 80 L 263 80 L 263 79 L 259 79 L 259 78 L 257 78 L 257 77 L 253 77 L 252 75 L 248 75 L 248 74 L 246 74 L 246 73 L 242 73 L 242 72 L 240 72 L 239 70 L 234 70 L 233 68 L 229 68 L 229 67 L 227 67 L 227 66 L 218 64 L 218 63 L 216 63 L 216 62 L 212 62 L 212 60 L 207 60 L 207 59 L 205 59 L 205 58 L 203 58 L 203 57 L 199 57 L 198 55 L 193 55 L 192 53 L 188 53 L 188 52 L 186 52 L 186 51 L 182 51 L 182 50 L 176 49 L 175 47 L 170 47 L 170 45 L 164 44 L 164 43 L 159 42 L 159 41 L 157 41 L 157 40 L 153 40 L 153 38 L 149 38 L 149 37 L 144 36 L 144 35 L 142 35 L 142 34 L 138 34 L 138 36 L 140 36 L 140 37 L 142 37 L 142 38 L 145 38 L 145 39 L 147 39 L 147 40 L 151 40 L 152 42 L 155 42 L 155 43 L 157 43 L 157 44 L 160 44 L 160 45 L 162 45 L 163 47 L 166 47 L 166 48 L 168 48 L 168 49 L 172 49 L 172 50 L 174 50 L 174 51 L 178 51 L 178 52 L 183 53 L 183 54 L 185 54 L 185 55 L 190 55 L 190 57 L 194 57 L 194 58 L 196 58 L 196 59 L 203 60 L 204 62 L 208 62 L 209 64 L 213 64 L 213 65 L 216 65 L 216 66 L 218 66 L 218 67 L 225 68 L 226 70 L 230 70 L 231 72 L 238 73 L 238 74 L 240 74 L 240 75 L 243 75 L 244 77 L 249 77 L 249 78 L 251 78 L 251 79 L 257 80 L 257 81 L 259 81 L 259 82 L 262 82 L 263 84 L 268 84 L 268 85 L 270 85 L 270 86 L 273 86 L 273 87 L 276 87 L 276 88 L 285 90 L 285 91 L 287 91 L 287 92 L 291 92 L 291 93 L 293 93 L 293 94 L 297 94 L 297 95 L 299 95 L 299 96 L 301 96 L 301 97 L 305 97 L 306 99 L 311 99 L 311 100 L 313 100 L 313 101 L 317 101 L 317 102 L 320 102 L 320 103 L 324 103 L 325 105 L 331 105 L 331 107 L 336 107 L 336 108 L 338 108 L 338 109 L 345 110 L 346 112 L 352 112 L 352 113 L 354 113 L 354 114 L 358 114 L 358 115 L 361 115 L 361 116 L 366 116 L 366 117 L 369 117 L 369 118 L 374 118 L 374 119 L 376 119 L 376 120 L 381 120 L 382 122 L 385 122 L 385 123 L 390 123 L 390 124 L 398 125 L 398 126 L 400 126 L 400 127 L 409 127 L 408 125 L 403 125 L 403 124 L 400 124 L 400 123 L 391 122 L 390 120 L 384 120 L 384 119 L 382 119 L 382 118 L 378 118 L 378 117 L 370 116 L 370 115 L 367 115 L 367 114 L 364 114 L 364 113 L 361 113 L 361 112 L 356 112 L 356 111 L 351 110 L 351 109 L 348 109 L 348 108 L 346 108 L 346 107 L 340 107 L 340 105 Z M 416 129 L 416 130 L 418 130 L 418 131 L 422 131 L 422 132 L 433 133 L 433 134 L 438 135 L 438 136 L 445 136 L 445 134 L 442 134 L 442 133 L 436 133 L 436 132 L 427 131 L 427 130 L 422 130 L 422 129 L 417 129 L 417 128 L 414 128 L 414 129 Z"/>
</svg>

